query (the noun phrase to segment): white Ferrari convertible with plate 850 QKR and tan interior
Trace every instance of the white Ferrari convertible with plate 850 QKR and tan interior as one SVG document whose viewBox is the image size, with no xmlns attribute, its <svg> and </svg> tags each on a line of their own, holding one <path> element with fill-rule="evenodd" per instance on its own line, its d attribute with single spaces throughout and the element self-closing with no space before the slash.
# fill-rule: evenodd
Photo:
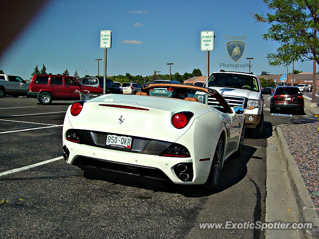
<svg viewBox="0 0 319 239">
<path fill-rule="evenodd" d="M 170 97 L 150 96 L 167 89 Z M 219 103 L 203 104 L 204 97 Z M 136 174 L 214 189 L 224 162 L 241 152 L 244 109 L 215 90 L 147 84 L 137 95 L 108 94 L 67 110 L 63 156 L 82 169 Z"/>
</svg>

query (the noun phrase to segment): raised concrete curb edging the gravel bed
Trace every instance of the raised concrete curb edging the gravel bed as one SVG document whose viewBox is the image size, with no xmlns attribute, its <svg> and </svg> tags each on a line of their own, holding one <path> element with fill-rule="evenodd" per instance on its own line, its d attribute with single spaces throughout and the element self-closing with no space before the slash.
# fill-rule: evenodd
<svg viewBox="0 0 319 239">
<path fill-rule="evenodd" d="M 283 163 L 287 170 L 287 178 L 292 189 L 292 194 L 297 205 L 297 218 L 301 223 L 312 223 L 312 229 L 300 230 L 301 238 L 318 239 L 319 238 L 319 217 L 315 205 L 308 193 L 304 180 L 300 174 L 295 159 L 291 155 L 284 135 L 280 127 L 275 128 L 279 150 L 283 157 Z"/>
</svg>

